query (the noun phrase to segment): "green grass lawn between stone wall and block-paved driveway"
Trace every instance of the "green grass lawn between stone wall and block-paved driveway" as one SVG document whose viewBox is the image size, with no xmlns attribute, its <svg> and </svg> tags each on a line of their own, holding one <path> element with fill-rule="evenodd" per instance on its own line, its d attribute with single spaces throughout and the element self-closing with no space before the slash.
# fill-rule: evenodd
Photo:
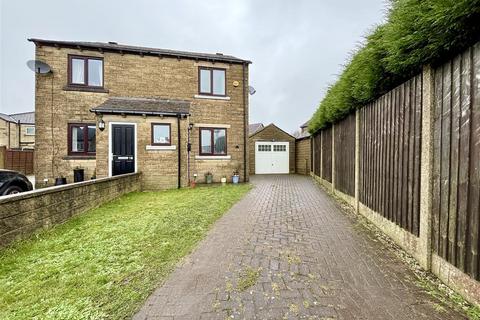
<svg viewBox="0 0 480 320">
<path fill-rule="evenodd" d="M 250 188 L 131 193 L 0 249 L 0 319 L 130 317 Z"/>
</svg>

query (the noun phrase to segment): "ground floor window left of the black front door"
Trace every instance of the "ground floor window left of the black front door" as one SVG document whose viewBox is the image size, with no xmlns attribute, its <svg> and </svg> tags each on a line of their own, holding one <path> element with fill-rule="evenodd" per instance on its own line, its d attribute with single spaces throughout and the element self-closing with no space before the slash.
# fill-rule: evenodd
<svg viewBox="0 0 480 320">
<path fill-rule="evenodd" d="M 93 123 L 70 123 L 68 125 L 68 154 L 95 155 L 96 127 Z"/>
</svg>

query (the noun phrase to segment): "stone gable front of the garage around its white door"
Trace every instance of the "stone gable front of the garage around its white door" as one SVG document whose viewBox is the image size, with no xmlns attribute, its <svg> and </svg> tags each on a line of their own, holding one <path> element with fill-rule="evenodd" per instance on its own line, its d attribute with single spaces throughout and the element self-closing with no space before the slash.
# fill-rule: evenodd
<svg viewBox="0 0 480 320">
<path fill-rule="evenodd" d="M 248 137 L 250 174 L 255 174 L 255 142 L 256 141 L 285 141 L 289 142 L 290 173 L 295 173 L 295 137 L 286 133 L 273 123 L 255 132 Z"/>
</svg>

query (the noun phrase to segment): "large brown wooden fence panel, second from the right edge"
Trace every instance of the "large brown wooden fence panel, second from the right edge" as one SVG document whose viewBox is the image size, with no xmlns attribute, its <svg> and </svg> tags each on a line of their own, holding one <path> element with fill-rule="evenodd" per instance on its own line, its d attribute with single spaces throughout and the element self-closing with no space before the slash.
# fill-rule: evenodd
<svg viewBox="0 0 480 320">
<path fill-rule="evenodd" d="M 359 200 L 417 236 L 421 91 L 418 75 L 360 110 Z"/>
</svg>

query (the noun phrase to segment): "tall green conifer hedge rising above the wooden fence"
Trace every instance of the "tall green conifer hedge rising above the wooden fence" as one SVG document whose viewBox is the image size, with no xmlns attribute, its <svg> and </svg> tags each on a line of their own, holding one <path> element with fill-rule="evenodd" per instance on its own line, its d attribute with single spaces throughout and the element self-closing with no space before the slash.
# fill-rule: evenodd
<svg viewBox="0 0 480 320">
<path fill-rule="evenodd" d="M 391 0 L 385 24 L 366 37 L 310 120 L 315 132 L 343 119 L 480 39 L 480 0 Z"/>
</svg>

